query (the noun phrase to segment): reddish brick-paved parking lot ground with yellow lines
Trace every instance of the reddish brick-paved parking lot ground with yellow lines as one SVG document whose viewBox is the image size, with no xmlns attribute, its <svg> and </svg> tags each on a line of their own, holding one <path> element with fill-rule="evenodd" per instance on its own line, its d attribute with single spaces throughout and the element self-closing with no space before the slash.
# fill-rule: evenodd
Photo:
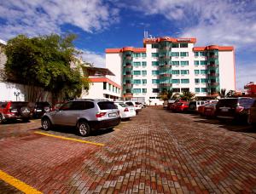
<svg viewBox="0 0 256 194">
<path fill-rule="evenodd" d="M 256 192 L 255 128 L 161 107 L 89 137 L 3 124 L 0 155 L 0 192 Z"/>
</svg>

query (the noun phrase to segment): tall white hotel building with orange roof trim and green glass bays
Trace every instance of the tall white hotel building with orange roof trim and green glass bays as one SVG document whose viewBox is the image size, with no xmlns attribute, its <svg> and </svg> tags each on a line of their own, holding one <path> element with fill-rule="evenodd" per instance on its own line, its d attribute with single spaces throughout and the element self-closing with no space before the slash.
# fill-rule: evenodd
<svg viewBox="0 0 256 194">
<path fill-rule="evenodd" d="M 186 91 L 196 96 L 235 90 L 234 47 L 195 47 L 196 38 L 144 38 L 143 48 L 107 48 L 106 68 L 116 75 L 125 99 L 162 104 L 160 93 Z"/>
</svg>

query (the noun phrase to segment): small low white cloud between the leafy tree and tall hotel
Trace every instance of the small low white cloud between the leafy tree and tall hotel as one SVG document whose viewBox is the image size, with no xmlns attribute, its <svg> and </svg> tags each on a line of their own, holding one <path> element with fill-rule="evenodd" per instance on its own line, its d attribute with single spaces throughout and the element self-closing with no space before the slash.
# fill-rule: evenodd
<svg viewBox="0 0 256 194">
<path fill-rule="evenodd" d="M 84 62 L 88 62 L 93 64 L 96 67 L 103 67 L 105 68 L 105 54 L 99 54 L 92 52 L 90 50 L 79 50 L 81 52 L 80 56 L 84 60 Z"/>
</svg>

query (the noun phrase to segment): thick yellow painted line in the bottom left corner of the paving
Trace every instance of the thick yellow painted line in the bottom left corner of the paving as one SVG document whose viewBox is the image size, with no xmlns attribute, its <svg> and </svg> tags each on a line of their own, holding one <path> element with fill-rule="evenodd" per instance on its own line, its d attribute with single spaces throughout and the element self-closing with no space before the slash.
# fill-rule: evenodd
<svg viewBox="0 0 256 194">
<path fill-rule="evenodd" d="M 0 180 L 3 180 L 4 182 L 8 183 L 9 185 L 14 186 L 18 190 L 25 192 L 25 193 L 42 193 L 36 189 L 34 189 L 30 185 L 26 185 L 26 183 L 15 179 L 15 177 L 4 173 L 2 170 L 0 170 Z"/>
</svg>

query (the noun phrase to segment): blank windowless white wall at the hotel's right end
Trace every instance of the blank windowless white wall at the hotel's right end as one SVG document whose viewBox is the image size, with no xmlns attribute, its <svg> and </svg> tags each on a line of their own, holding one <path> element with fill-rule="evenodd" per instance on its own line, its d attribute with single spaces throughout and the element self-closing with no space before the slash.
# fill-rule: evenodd
<svg viewBox="0 0 256 194">
<path fill-rule="evenodd" d="M 236 82 L 234 51 L 219 51 L 218 62 L 220 88 L 226 88 L 227 91 L 230 89 L 235 90 Z"/>
</svg>

